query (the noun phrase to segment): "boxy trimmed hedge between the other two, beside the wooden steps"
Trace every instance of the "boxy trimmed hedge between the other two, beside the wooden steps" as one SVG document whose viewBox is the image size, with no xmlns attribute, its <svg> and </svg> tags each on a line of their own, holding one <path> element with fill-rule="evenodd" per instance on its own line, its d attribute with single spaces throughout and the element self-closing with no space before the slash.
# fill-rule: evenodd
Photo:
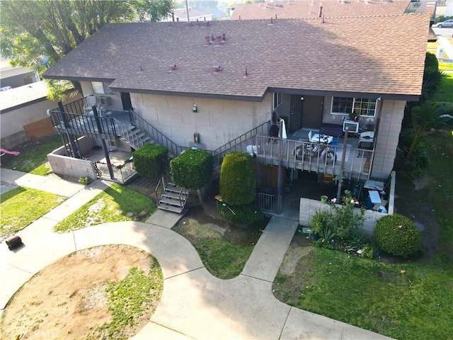
<svg viewBox="0 0 453 340">
<path fill-rule="evenodd" d="M 171 179 L 177 186 L 198 190 L 211 181 L 214 173 L 212 154 L 205 150 L 185 150 L 170 161 Z"/>
</svg>

